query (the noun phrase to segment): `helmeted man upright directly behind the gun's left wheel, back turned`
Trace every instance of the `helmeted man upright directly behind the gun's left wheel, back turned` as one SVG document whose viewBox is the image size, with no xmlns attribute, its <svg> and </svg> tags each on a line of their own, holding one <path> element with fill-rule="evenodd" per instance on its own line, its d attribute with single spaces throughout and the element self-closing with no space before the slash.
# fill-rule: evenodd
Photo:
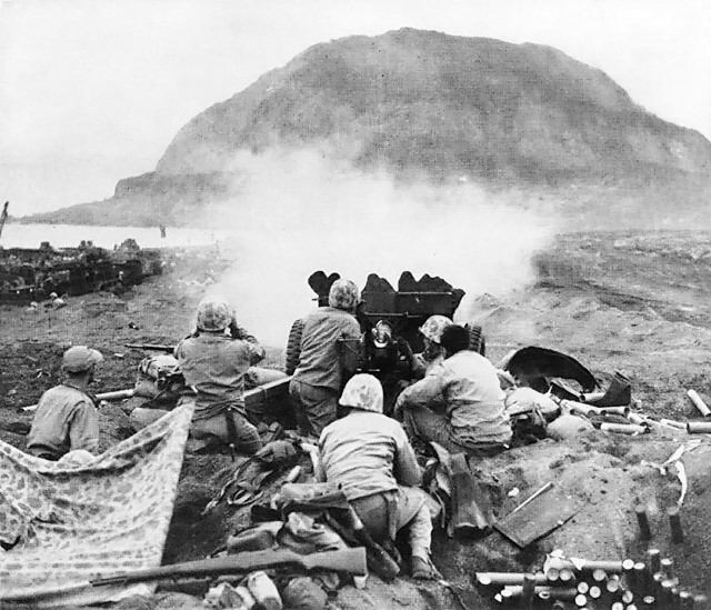
<svg viewBox="0 0 711 610">
<path fill-rule="evenodd" d="M 297 421 L 302 433 L 318 437 L 336 420 L 338 398 L 348 376 L 339 358 L 339 339 L 359 339 L 356 307 L 358 287 L 338 279 L 329 291 L 329 307 L 303 318 L 297 369 L 289 384 Z"/>
</svg>

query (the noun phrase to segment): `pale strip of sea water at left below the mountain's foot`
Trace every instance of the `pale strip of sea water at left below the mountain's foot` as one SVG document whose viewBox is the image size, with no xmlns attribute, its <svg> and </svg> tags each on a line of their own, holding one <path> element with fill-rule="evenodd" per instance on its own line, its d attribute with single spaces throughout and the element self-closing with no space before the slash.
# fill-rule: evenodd
<svg viewBox="0 0 711 610">
<path fill-rule="evenodd" d="M 79 246 L 82 240 L 91 240 L 94 246 L 111 250 L 114 246 L 121 244 L 123 240 L 132 238 L 141 248 L 169 248 L 210 246 L 229 236 L 229 231 L 168 227 L 166 237 L 161 238 L 158 227 L 6 223 L 2 236 L 0 236 L 0 246 L 3 248 L 39 248 L 42 241 L 49 241 L 54 248 L 73 248 Z"/>
</svg>

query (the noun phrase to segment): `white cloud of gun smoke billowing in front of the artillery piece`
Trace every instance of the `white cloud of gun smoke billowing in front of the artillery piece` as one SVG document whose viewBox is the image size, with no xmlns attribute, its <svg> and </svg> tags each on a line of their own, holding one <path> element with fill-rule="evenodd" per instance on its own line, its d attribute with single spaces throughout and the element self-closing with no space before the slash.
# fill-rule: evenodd
<svg viewBox="0 0 711 610">
<path fill-rule="evenodd" d="M 505 293 L 532 281 L 532 254 L 554 228 L 522 193 L 492 196 L 470 183 L 402 186 L 318 150 L 272 150 L 234 160 L 234 196 L 206 222 L 231 231 L 233 264 L 210 292 L 227 297 L 239 323 L 266 344 L 286 346 L 311 308 L 317 270 L 363 288 L 378 273 L 397 289 L 402 271 L 440 276 L 467 297 Z"/>
</svg>

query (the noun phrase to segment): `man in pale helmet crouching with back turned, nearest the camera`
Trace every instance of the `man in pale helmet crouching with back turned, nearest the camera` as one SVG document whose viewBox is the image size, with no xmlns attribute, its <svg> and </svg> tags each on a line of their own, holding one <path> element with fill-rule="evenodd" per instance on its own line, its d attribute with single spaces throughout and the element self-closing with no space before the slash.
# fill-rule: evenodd
<svg viewBox="0 0 711 610">
<path fill-rule="evenodd" d="M 382 414 L 380 381 L 353 376 L 339 402 L 348 413 L 321 432 L 317 479 L 342 489 L 374 540 L 389 546 L 407 528 L 412 576 L 431 578 L 432 517 L 417 487 L 422 476 L 404 430 Z"/>
</svg>

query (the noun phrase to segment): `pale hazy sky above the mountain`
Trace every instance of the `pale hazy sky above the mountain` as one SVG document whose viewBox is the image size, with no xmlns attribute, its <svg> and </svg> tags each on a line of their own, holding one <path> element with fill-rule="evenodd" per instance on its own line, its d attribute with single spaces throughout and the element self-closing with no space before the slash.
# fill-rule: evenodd
<svg viewBox="0 0 711 610">
<path fill-rule="evenodd" d="M 0 200 L 108 198 L 309 46 L 402 27 L 557 47 L 711 139 L 707 0 L 0 0 Z"/>
</svg>

